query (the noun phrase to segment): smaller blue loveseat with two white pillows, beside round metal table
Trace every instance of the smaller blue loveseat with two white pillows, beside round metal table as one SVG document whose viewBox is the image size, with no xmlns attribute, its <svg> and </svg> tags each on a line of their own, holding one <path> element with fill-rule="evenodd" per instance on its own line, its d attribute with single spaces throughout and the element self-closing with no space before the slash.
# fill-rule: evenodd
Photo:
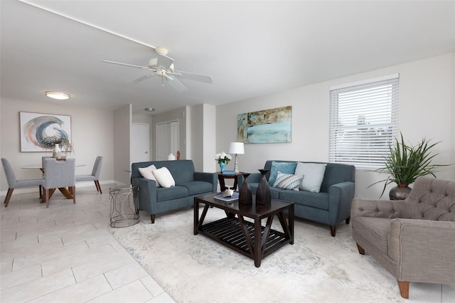
<svg viewBox="0 0 455 303">
<path fill-rule="evenodd" d="M 156 181 L 143 178 L 139 168 L 151 164 L 156 169 L 166 167 L 176 186 L 156 187 Z M 158 213 L 193 206 L 194 197 L 216 193 L 218 175 L 194 171 L 191 160 L 146 161 L 132 164 L 131 181 L 132 186 L 139 186 L 139 209 L 149 213 L 151 223 L 155 223 L 155 215 Z"/>
</svg>

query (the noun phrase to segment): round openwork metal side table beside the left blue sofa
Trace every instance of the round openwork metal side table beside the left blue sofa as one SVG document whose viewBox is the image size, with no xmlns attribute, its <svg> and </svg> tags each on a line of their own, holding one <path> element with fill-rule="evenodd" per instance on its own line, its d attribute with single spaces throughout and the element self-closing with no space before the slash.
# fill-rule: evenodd
<svg viewBox="0 0 455 303">
<path fill-rule="evenodd" d="M 139 187 L 119 185 L 109 188 L 111 227 L 123 228 L 139 223 Z"/>
</svg>

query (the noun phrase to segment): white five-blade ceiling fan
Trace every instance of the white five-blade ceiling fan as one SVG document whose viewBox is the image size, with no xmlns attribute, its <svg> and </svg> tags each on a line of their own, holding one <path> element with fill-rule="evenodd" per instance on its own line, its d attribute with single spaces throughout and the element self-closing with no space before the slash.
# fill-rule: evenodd
<svg viewBox="0 0 455 303">
<path fill-rule="evenodd" d="M 124 65 L 132 68 L 141 68 L 143 70 L 151 70 L 152 73 L 148 73 L 146 75 L 142 75 L 139 78 L 127 81 L 130 83 L 138 83 L 156 75 L 158 77 L 161 77 L 161 85 L 164 86 L 164 80 L 166 79 L 166 82 L 169 83 L 169 85 L 171 85 L 171 87 L 173 87 L 178 92 L 185 92 L 188 89 L 177 78 L 199 81 L 203 83 L 212 83 L 212 77 L 208 75 L 198 75 L 195 73 L 184 72 L 182 70 L 174 70 L 173 59 L 167 56 L 168 49 L 164 46 L 157 46 L 155 48 L 155 52 L 157 54 L 157 58 L 151 58 L 149 60 L 148 66 L 119 63 L 109 60 L 101 60 L 101 62 Z"/>
</svg>

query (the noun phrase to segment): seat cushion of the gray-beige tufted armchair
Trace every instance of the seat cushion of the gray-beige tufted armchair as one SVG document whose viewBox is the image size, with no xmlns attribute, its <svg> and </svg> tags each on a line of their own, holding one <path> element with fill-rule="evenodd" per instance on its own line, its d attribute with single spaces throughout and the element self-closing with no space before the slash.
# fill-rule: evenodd
<svg viewBox="0 0 455 303">
<path fill-rule="evenodd" d="M 355 217 L 353 228 L 372 246 L 387 255 L 387 238 L 391 220 L 390 218 Z"/>
</svg>

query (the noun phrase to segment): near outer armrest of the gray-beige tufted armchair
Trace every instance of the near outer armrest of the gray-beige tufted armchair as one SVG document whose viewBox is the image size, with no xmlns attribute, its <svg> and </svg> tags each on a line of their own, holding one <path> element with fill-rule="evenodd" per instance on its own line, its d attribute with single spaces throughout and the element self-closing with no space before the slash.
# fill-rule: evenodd
<svg viewBox="0 0 455 303">
<path fill-rule="evenodd" d="M 400 265 L 400 281 L 455 283 L 455 222 L 395 218 L 388 255 Z"/>
</svg>

